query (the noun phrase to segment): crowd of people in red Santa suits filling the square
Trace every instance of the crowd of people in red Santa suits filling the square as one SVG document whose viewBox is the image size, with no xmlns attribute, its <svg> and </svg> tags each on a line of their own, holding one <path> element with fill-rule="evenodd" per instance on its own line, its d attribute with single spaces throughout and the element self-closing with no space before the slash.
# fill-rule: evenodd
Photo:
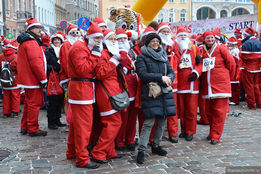
<svg viewBox="0 0 261 174">
<path fill-rule="evenodd" d="M 85 34 L 70 25 L 67 35 L 58 32 L 42 39 L 41 23 L 34 18 L 27 23 L 17 40 L 1 37 L 2 67 L 14 58 L 15 75 L 13 85 L 3 86 L 3 117 L 20 116 L 23 94 L 20 133 L 45 136 L 38 115 L 47 109 L 48 128 L 66 127 L 66 157 L 76 158 L 76 167 L 94 169 L 107 159 L 122 158 L 116 150 L 135 151 L 137 118 L 137 163 L 143 164 L 148 141 L 152 153 L 167 155 L 160 146 L 166 125 L 172 143 L 178 143 L 178 137 L 192 141 L 197 124 L 209 125 L 206 139 L 216 145 L 228 105 L 246 98 L 243 108 L 261 108 L 261 43 L 251 27 L 244 30 L 244 38 L 236 29 L 236 37 L 225 43 L 217 28 L 189 38 L 179 26 L 173 39 L 170 27 L 161 22 L 146 27 L 140 43 L 131 47 L 128 31 L 107 29 L 101 17 L 90 22 Z M 53 73 L 62 90 L 58 95 L 46 92 Z M 129 106 L 119 111 L 112 96 L 123 92 Z M 67 123 L 60 121 L 62 108 Z"/>
</svg>

